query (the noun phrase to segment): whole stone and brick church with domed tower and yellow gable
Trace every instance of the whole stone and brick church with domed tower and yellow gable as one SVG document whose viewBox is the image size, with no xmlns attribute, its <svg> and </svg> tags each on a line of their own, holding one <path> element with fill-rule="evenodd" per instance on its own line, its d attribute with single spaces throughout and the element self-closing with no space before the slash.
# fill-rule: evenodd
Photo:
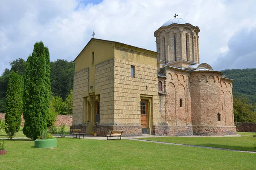
<svg viewBox="0 0 256 170">
<path fill-rule="evenodd" d="M 92 38 L 74 60 L 73 125 L 99 136 L 236 134 L 232 79 L 200 63 L 200 29 L 174 18 L 157 52 Z"/>
</svg>

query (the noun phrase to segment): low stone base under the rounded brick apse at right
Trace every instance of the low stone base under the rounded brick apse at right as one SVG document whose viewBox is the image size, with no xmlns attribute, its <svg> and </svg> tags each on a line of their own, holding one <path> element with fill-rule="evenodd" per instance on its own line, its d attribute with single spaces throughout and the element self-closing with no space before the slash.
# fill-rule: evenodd
<svg viewBox="0 0 256 170">
<path fill-rule="evenodd" d="M 200 135 L 200 136 L 236 135 L 236 126 L 193 126 L 193 135 Z"/>
</svg>

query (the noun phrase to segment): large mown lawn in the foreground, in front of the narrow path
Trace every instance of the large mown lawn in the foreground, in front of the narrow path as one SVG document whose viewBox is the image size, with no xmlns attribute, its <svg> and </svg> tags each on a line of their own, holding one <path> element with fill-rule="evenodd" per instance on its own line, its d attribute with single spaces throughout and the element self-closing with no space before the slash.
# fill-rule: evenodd
<svg viewBox="0 0 256 170">
<path fill-rule="evenodd" d="M 253 170 L 256 154 L 122 140 L 58 138 L 55 149 L 30 139 L 6 140 L 0 169 Z"/>
</svg>

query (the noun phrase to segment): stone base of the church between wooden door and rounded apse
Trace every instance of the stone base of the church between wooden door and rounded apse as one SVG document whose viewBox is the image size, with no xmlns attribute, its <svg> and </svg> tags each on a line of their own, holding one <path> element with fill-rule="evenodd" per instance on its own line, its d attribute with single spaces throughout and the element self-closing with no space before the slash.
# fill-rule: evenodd
<svg viewBox="0 0 256 170">
<path fill-rule="evenodd" d="M 153 133 L 157 136 L 190 136 L 193 135 L 191 126 L 154 125 Z"/>
</svg>

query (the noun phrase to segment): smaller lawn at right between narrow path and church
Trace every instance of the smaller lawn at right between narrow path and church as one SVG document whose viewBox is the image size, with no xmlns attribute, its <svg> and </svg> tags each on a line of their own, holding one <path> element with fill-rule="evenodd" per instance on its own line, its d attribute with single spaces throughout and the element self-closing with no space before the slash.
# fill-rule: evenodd
<svg viewBox="0 0 256 170">
<path fill-rule="evenodd" d="M 192 144 L 198 146 L 218 147 L 233 150 L 256 151 L 255 133 L 237 132 L 244 136 L 238 137 L 156 137 L 156 138 L 141 138 L 143 140 L 177 143 L 177 144 Z"/>
</svg>

